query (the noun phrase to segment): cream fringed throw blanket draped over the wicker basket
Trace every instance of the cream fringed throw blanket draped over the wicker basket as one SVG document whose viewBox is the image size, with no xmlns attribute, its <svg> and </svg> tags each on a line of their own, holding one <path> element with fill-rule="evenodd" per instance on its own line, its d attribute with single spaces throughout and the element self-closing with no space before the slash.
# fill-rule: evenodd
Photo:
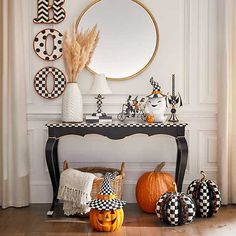
<svg viewBox="0 0 236 236">
<path fill-rule="evenodd" d="M 91 200 L 94 174 L 67 169 L 61 173 L 58 199 L 63 200 L 65 215 L 86 214 L 90 208 L 86 203 Z"/>
</svg>

